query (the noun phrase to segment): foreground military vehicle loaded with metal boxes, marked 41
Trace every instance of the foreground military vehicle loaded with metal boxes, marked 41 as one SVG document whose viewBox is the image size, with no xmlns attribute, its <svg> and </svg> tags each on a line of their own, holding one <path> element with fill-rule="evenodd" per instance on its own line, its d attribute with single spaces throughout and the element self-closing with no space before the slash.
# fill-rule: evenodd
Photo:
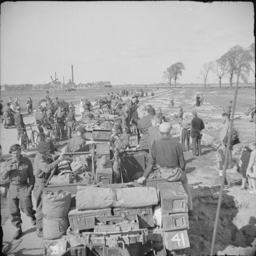
<svg viewBox="0 0 256 256">
<path fill-rule="evenodd" d="M 90 179 L 52 184 L 53 172 L 46 183 L 45 194 L 66 191 L 71 193 L 72 200 L 67 216 L 69 228 L 63 236 L 43 240 L 45 256 L 166 256 L 190 247 L 187 194 L 181 182 L 167 182 L 154 173 L 145 184 L 138 184 L 136 179 L 145 170 L 145 156 L 141 151 L 128 149 L 122 153 L 121 179 L 113 183 L 113 152 L 106 142 L 94 142 L 65 154 L 67 161 L 82 162 L 85 156 L 91 158 L 91 168 L 87 169 Z M 99 193 L 79 197 L 81 188 L 98 189 Z M 109 189 L 115 198 L 110 206 L 97 207 L 103 189 Z M 153 190 L 157 197 L 148 192 L 143 194 L 140 189 Z M 79 209 L 83 198 L 94 198 L 94 208 Z M 88 203 L 85 205 L 89 207 Z"/>
</svg>

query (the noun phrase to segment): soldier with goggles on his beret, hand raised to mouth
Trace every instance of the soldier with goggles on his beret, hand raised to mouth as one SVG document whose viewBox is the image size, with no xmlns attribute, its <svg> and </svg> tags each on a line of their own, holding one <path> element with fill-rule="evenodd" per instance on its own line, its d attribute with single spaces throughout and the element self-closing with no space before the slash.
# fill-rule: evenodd
<svg viewBox="0 0 256 256">
<path fill-rule="evenodd" d="M 21 155 L 19 144 L 12 145 L 9 153 L 12 157 L 5 162 L 1 178 L 10 181 L 10 187 L 7 192 L 7 205 L 10 221 L 12 225 L 16 227 L 13 239 L 18 239 L 22 234 L 20 209 L 30 217 L 32 225 L 35 225 L 35 211 L 33 210 L 31 200 L 31 192 L 34 187 L 34 175 L 32 163 L 29 158 L 25 158 Z"/>
</svg>

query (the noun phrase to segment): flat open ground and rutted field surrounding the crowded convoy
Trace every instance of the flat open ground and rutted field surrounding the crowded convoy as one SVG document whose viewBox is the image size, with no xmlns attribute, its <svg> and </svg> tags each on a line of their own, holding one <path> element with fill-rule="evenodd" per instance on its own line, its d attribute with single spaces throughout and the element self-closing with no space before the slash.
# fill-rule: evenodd
<svg viewBox="0 0 256 256">
<path fill-rule="evenodd" d="M 152 91 L 149 88 L 147 90 L 149 92 Z M 108 91 L 120 92 L 120 89 L 81 91 L 72 93 L 50 91 L 50 96 L 51 98 L 58 96 L 59 98 L 64 98 L 66 101 L 71 99 L 73 102 L 78 102 L 79 98 L 93 100 L 97 95 L 104 96 Z M 201 93 L 204 96 L 203 105 L 201 107 L 193 107 L 196 95 Z M 171 119 L 172 136 L 177 140 L 181 138 L 181 129 L 174 118 L 174 114 L 178 112 L 179 106 L 183 108 L 183 116 L 187 114 L 189 118 L 192 118 L 191 112 L 195 110 L 198 113 L 198 117 L 202 118 L 205 123 L 205 129 L 202 131 L 202 156 L 194 157 L 192 156 L 192 151 L 184 152 L 188 182 L 193 196 L 193 207 L 198 221 L 190 222 L 190 228 L 188 230 L 190 249 L 181 251 L 180 253 L 192 256 L 210 254 L 221 183 L 218 173 L 217 157 L 217 139 L 222 128 L 220 115 L 229 101 L 233 100 L 234 94 L 235 89 L 228 88 L 219 90 L 217 87 L 207 89 L 179 87 L 172 88 L 171 90 L 160 88 L 159 91 L 155 90 L 155 97 L 153 98 L 151 96 L 148 99 L 146 97 L 139 98 L 140 105 L 148 106 L 148 104 L 151 104 L 157 111 L 160 108 L 162 109 L 162 113 Z M 18 96 L 21 99 L 21 105 L 24 105 L 25 109 L 27 97 L 31 97 L 34 101 L 34 106 L 36 106 L 39 98 L 42 98 L 43 95 L 43 90 L 30 92 L 9 91 L 1 92 L 1 99 L 5 102 L 10 96 L 13 99 Z M 174 96 L 174 108 L 169 107 L 171 95 Z M 128 98 L 130 97 L 128 96 Z M 240 87 L 236 101 L 234 126 L 240 133 L 241 143 L 255 138 L 255 123 L 252 122 L 250 115 L 246 116 L 244 114 L 247 108 L 253 103 L 255 103 L 255 86 Z M 78 104 L 75 106 L 78 111 Z M 25 117 L 25 123 L 32 122 L 34 122 L 34 117 Z M 1 127 L 0 132 L 0 143 L 3 148 L 3 158 L 5 160 L 10 157 L 10 154 L 8 154 L 10 145 L 17 143 L 17 132 L 16 128 L 4 129 L 3 127 Z M 61 147 L 65 143 L 61 143 Z M 236 156 L 241 143 L 235 145 L 232 151 L 234 166 L 236 165 Z M 30 157 L 32 163 L 34 162 L 34 154 L 35 151 L 28 153 L 28 157 Z M 3 167 L 3 164 L 4 162 L 1 162 L 0 166 Z M 218 221 L 214 253 L 216 255 L 255 255 L 256 197 L 250 195 L 248 190 L 241 190 L 241 175 L 236 172 L 236 167 L 227 169 L 226 177 L 229 187 L 224 189 L 222 195 L 222 207 Z M 4 187 L 8 187 L 8 184 L 2 183 L 1 186 L 1 190 L 3 190 L 1 197 L 2 226 L 5 225 L 8 219 Z"/>
</svg>

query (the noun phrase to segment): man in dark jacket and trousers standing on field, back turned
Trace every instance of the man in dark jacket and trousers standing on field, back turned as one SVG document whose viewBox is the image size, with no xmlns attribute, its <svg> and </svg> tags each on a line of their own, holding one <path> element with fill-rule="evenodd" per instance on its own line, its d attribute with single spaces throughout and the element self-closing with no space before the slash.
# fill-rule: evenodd
<svg viewBox="0 0 256 256">
<path fill-rule="evenodd" d="M 201 156 L 201 138 L 202 129 L 204 129 L 203 120 L 197 117 L 197 112 L 192 111 L 194 118 L 191 122 L 191 138 L 193 147 L 193 156 Z"/>
</svg>

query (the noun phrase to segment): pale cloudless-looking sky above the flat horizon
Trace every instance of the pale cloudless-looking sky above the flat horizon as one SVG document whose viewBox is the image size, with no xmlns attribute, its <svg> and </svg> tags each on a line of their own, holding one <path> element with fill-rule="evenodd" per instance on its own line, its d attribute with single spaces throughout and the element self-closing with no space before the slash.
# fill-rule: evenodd
<svg viewBox="0 0 256 256">
<path fill-rule="evenodd" d="M 255 41 L 252 2 L 5 2 L 1 5 L 1 84 L 59 80 L 112 84 L 179 83 L 235 45 Z M 251 79 L 253 81 L 253 79 Z M 213 77 L 209 82 L 217 82 Z"/>
</svg>

